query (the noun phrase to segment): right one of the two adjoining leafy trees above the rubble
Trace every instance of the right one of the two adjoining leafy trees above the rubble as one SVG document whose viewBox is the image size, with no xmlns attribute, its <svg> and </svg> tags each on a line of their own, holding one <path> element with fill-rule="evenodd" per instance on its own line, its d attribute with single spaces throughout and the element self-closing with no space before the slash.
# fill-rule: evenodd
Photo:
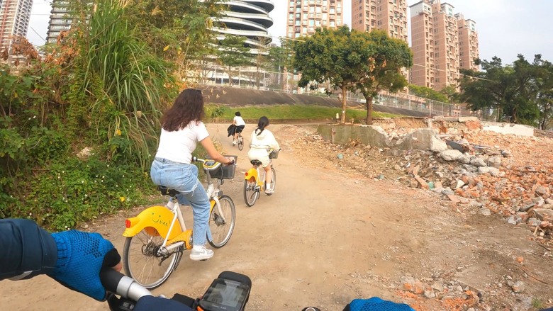
<svg viewBox="0 0 553 311">
<path fill-rule="evenodd" d="M 369 57 L 369 70 L 362 68 L 355 89 L 363 94 L 366 101 L 367 118 L 372 124 L 372 101 L 380 91 L 396 92 L 407 86 L 401 68 L 413 66 L 413 53 L 403 40 L 390 38 L 384 30 L 362 33 L 367 36 L 364 49 L 372 52 Z M 363 70 L 364 69 L 364 70 Z"/>
</svg>

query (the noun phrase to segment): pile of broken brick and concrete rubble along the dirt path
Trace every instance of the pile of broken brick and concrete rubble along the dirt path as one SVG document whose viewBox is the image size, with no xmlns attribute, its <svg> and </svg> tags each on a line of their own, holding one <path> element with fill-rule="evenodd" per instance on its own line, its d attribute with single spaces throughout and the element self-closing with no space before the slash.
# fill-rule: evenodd
<svg viewBox="0 0 553 311">
<path fill-rule="evenodd" d="M 430 130 L 428 149 L 371 147 L 356 140 L 330 145 L 318 135 L 307 140 L 335 152 L 333 162 L 338 166 L 441 193 L 482 215 L 503 215 L 513 225 L 526 223 L 538 239 L 552 234 L 553 139 L 500 134 L 470 122 L 462 130 L 446 126 L 440 127 L 440 134 Z M 422 131 L 429 130 L 414 132 Z M 414 132 L 386 130 L 398 142 L 406 137 L 416 140 Z"/>
</svg>

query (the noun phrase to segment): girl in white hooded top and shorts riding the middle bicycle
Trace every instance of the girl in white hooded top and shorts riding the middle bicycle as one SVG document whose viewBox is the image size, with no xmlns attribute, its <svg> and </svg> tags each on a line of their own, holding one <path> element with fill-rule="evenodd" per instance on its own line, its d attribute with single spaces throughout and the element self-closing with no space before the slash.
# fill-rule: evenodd
<svg viewBox="0 0 553 311">
<path fill-rule="evenodd" d="M 257 128 L 252 132 L 252 140 L 250 144 L 250 151 L 247 152 L 247 157 L 251 160 L 259 160 L 261 166 L 265 170 L 265 181 L 267 181 L 267 188 L 265 193 L 273 193 L 272 185 L 272 173 L 271 166 L 269 166 L 269 152 L 267 149 L 280 150 L 279 143 L 274 139 L 274 135 L 270 130 L 267 130 L 269 126 L 269 119 L 265 116 L 259 118 L 257 122 Z"/>
</svg>

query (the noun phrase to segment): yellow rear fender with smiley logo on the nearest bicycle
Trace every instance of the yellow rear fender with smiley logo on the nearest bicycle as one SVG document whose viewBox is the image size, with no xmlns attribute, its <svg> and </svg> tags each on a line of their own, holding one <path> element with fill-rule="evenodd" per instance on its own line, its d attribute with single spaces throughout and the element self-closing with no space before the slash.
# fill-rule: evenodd
<svg viewBox="0 0 553 311">
<path fill-rule="evenodd" d="M 133 237 L 142 230 L 146 230 L 152 236 L 161 235 L 162 237 L 167 237 L 173 217 L 172 211 L 164 206 L 146 208 L 136 217 L 125 220 L 125 227 L 127 228 L 123 232 L 123 237 Z M 181 225 L 177 220 L 171 230 L 169 239 L 177 237 L 181 232 Z"/>
</svg>

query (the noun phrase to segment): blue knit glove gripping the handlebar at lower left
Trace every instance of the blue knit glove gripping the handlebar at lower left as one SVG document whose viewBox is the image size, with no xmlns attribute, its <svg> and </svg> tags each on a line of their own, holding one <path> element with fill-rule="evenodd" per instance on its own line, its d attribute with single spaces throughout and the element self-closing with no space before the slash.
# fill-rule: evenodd
<svg viewBox="0 0 553 311">
<path fill-rule="evenodd" d="M 72 290 L 105 300 L 106 289 L 100 281 L 100 270 L 121 261 L 113 244 L 101 234 L 77 230 L 52 233 L 52 238 L 57 245 L 57 262 L 50 276 Z"/>
</svg>

